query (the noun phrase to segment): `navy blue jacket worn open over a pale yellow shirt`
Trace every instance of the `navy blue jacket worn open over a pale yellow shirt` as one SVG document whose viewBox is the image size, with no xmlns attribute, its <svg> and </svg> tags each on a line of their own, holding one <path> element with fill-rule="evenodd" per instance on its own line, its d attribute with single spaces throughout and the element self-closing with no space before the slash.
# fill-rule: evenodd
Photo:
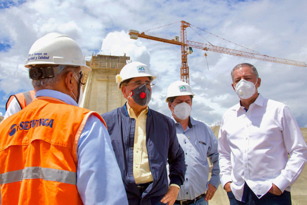
<svg viewBox="0 0 307 205">
<path fill-rule="evenodd" d="M 133 143 L 135 119 L 129 118 L 126 105 L 102 115 L 117 162 L 129 205 L 155 205 L 168 191 L 166 164 L 170 167 L 170 184 L 184 183 L 185 162 L 174 121 L 148 108 L 146 120 L 146 146 L 153 183 L 140 195 L 133 178 Z M 116 191 L 116 190 L 115 190 Z"/>
</svg>

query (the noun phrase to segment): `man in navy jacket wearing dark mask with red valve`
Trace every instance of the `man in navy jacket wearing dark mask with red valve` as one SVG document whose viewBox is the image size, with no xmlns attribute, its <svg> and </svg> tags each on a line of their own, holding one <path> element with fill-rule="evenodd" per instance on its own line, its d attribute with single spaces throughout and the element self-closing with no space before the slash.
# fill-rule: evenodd
<svg viewBox="0 0 307 205">
<path fill-rule="evenodd" d="M 103 114 L 122 171 L 129 205 L 173 205 L 184 182 L 184 152 L 174 122 L 147 105 L 156 78 L 142 63 L 125 65 L 116 76 L 127 102 Z M 167 177 L 170 165 L 170 186 Z"/>
</svg>

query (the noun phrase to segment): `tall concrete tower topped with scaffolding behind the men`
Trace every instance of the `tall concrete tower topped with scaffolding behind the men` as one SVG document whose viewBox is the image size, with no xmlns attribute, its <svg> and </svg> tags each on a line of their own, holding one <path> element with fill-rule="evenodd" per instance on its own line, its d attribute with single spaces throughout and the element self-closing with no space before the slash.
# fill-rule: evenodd
<svg viewBox="0 0 307 205">
<path fill-rule="evenodd" d="M 93 55 L 86 65 L 92 71 L 85 73 L 81 107 L 103 114 L 123 106 L 123 93 L 117 88 L 115 76 L 120 73 L 130 57 Z"/>
</svg>

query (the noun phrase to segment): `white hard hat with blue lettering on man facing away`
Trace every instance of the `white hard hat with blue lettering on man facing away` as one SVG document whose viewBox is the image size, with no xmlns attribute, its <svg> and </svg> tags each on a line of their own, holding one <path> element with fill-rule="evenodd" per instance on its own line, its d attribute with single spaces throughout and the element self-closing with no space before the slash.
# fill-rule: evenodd
<svg viewBox="0 0 307 205">
<path fill-rule="evenodd" d="M 32 68 L 36 65 L 80 66 L 84 71 L 92 70 L 86 66 L 78 44 L 69 36 L 60 33 L 49 33 L 34 42 L 25 67 Z"/>
</svg>

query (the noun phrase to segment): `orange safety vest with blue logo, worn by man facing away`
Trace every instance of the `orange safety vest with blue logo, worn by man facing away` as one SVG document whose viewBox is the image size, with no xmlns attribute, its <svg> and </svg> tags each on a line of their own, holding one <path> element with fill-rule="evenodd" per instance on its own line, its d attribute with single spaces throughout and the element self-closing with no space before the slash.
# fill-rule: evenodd
<svg viewBox="0 0 307 205">
<path fill-rule="evenodd" d="M 96 112 L 37 97 L 2 121 L 1 205 L 82 205 L 76 187 L 77 144 L 91 114 L 106 126 Z"/>
</svg>

